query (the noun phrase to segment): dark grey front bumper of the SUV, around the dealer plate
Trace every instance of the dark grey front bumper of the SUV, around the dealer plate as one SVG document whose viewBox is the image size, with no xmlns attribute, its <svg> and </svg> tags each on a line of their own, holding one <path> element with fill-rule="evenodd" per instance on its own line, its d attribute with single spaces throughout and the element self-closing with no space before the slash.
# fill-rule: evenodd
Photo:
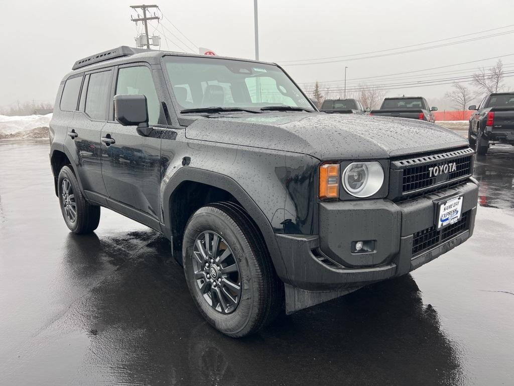
<svg viewBox="0 0 514 386">
<path fill-rule="evenodd" d="M 413 249 L 419 235 L 434 226 L 434 202 L 457 195 L 464 197 L 465 226 L 427 243 L 427 248 Z M 276 235 L 286 284 L 305 291 L 340 291 L 406 274 L 471 237 L 477 201 L 478 183 L 470 179 L 398 203 L 385 199 L 321 203 L 319 236 Z M 374 240 L 375 250 L 352 253 L 350 245 L 356 240 Z"/>
</svg>

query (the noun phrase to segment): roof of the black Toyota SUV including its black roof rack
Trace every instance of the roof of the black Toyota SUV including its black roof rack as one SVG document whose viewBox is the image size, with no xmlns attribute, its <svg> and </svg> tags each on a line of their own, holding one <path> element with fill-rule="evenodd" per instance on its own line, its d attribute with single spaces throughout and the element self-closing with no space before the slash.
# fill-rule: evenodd
<svg viewBox="0 0 514 386">
<path fill-rule="evenodd" d="M 103 67 L 110 67 L 114 65 L 124 64 L 124 63 L 133 63 L 133 62 L 147 62 L 149 64 L 160 64 L 160 60 L 163 56 L 171 55 L 171 56 L 183 56 L 183 57 L 193 57 L 193 58 L 208 58 L 212 60 L 219 60 L 219 59 L 229 59 L 229 60 L 240 60 L 245 62 L 252 62 L 252 63 L 260 63 L 260 64 L 270 64 L 270 65 L 277 65 L 276 63 L 270 63 L 270 62 L 264 62 L 264 61 L 257 61 L 257 60 L 251 60 L 251 59 L 242 59 L 242 58 L 232 58 L 232 57 L 226 57 L 226 56 L 208 56 L 208 55 L 198 55 L 198 54 L 189 54 L 187 52 L 175 52 L 175 51 L 168 51 L 168 50 L 153 50 L 153 49 L 145 49 L 145 48 L 134 48 L 134 47 L 127 47 L 127 46 L 120 46 L 117 48 L 113 48 L 112 50 L 108 51 L 118 51 L 120 52 L 120 55 L 112 59 L 97 59 L 96 62 L 93 62 L 91 64 L 83 65 L 78 68 L 72 69 L 72 71 L 68 74 L 66 74 L 65 78 L 68 78 L 71 75 L 74 74 L 80 74 L 85 71 L 91 71 L 98 68 Z M 89 58 L 93 58 L 95 56 L 101 56 L 104 52 L 99 52 L 99 54 L 91 55 L 89 57 L 79 59 L 75 62 L 74 67 L 78 65 L 79 62 L 85 61 Z M 133 53 L 131 53 L 133 52 Z M 80 64 L 79 64 L 80 65 Z"/>
</svg>

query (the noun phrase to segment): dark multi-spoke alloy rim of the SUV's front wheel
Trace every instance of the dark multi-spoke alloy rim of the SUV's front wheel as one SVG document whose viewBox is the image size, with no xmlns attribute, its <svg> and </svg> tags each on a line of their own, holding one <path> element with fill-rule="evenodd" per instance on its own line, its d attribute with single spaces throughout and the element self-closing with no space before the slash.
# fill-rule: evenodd
<svg viewBox="0 0 514 386">
<path fill-rule="evenodd" d="M 229 244 L 213 231 L 198 235 L 193 247 L 197 289 L 217 312 L 233 312 L 241 300 L 241 272 Z"/>
</svg>

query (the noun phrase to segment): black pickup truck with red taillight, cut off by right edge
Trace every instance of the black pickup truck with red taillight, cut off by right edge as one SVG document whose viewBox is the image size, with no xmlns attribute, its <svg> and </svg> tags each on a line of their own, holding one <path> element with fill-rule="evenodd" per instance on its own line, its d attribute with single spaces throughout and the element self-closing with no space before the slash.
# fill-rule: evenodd
<svg viewBox="0 0 514 386">
<path fill-rule="evenodd" d="M 493 93 L 486 96 L 469 119 L 469 146 L 485 155 L 490 145 L 514 146 L 514 93 Z"/>
</svg>

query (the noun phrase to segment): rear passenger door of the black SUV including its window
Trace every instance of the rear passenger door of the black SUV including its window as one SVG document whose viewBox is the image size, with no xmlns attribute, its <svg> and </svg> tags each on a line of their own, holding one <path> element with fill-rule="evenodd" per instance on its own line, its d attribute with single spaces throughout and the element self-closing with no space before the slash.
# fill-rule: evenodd
<svg viewBox="0 0 514 386">
<path fill-rule="evenodd" d="M 107 195 L 102 178 L 100 134 L 107 121 L 108 98 L 113 77 L 111 69 L 86 73 L 78 111 L 68 127 L 68 143 L 87 198 L 104 203 Z"/>
</svg>

